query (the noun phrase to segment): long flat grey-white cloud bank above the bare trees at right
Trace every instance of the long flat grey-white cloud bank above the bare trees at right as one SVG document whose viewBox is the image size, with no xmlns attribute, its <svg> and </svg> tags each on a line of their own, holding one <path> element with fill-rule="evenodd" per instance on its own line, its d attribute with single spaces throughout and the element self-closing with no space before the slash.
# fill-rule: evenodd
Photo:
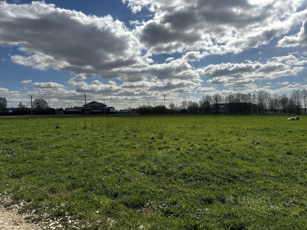
<svg viewBox="0 0 307 230">
<path fill-rule="evenodd" d="M 305 69 L 306 59 L 293 55 L 273 57 L 265 63 L 248 61 L 247 63 L 221 63 L 200 68 L 200 74 L 210 78 L 208 84 L 223 84 L 229 89 L 255 88 L 256 79 L 275 79 L 295 76 Z"/>
</svg>

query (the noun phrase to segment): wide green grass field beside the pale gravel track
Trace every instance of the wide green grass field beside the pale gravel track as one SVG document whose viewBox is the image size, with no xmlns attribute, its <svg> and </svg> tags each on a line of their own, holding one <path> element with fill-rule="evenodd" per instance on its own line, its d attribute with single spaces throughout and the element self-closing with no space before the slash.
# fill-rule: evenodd
<svg viewBox="0 0 307 230">
<path fill-rule="evenodd" d="M 1 117 L 0 192 L 84 229 L 306 229 L 307 119 L 287 118 Z"/>
</svg>

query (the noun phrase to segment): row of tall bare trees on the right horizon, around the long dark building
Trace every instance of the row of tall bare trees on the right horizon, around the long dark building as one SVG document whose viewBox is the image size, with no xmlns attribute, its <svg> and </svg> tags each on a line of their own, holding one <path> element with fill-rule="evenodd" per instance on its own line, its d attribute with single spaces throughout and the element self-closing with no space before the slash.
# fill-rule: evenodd
<svg viewBox="0 0 307 230">
<path fill-rule="evenodd" d="M 183 101 L 182 105 L 186 102 Z M 224 107 L 224 113 L 230 114 L 280 114 L 296 113 L 303 111 L 306 115 L 307 90 L 293 90 L 290 95 L 269 94 L 265 90 L 258 91 L 255 94 L 236 92 L 222 96 L 215 94 L 213 96 L 203 96 L 199 101 L 201 113 L 221 113 L 221 106 Z"/>
</svg>

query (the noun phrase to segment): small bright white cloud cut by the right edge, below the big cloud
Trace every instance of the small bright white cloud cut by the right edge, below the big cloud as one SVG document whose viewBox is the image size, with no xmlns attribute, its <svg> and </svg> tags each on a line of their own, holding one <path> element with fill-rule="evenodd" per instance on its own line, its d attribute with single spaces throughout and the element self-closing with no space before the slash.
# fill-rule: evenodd
<svg viewBox="0 0 307 230">
<path fill-rule="evenodd" d="M 278 47 L 293 47 L 307 45 L 307 20 L 303 22 L 301 30 L 294 35 L 284 36 L 278 41 Z"/>
</svg>

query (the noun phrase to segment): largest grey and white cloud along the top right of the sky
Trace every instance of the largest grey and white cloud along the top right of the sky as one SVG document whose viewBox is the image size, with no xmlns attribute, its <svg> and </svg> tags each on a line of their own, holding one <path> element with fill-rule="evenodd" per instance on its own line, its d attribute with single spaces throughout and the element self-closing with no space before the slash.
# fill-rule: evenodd
<svg viewBox="0 0 307 230">
<path fill-rule="evenodd" d="M 239 53 L 268 44 L 305 20 L 300 0 L 171 1 L 123 0 L 136 13 L 146 7 L 152 20 L 136 27 L 147 49 L 173 53 L 205 49 L 211 53 Z"/>
</svg>

